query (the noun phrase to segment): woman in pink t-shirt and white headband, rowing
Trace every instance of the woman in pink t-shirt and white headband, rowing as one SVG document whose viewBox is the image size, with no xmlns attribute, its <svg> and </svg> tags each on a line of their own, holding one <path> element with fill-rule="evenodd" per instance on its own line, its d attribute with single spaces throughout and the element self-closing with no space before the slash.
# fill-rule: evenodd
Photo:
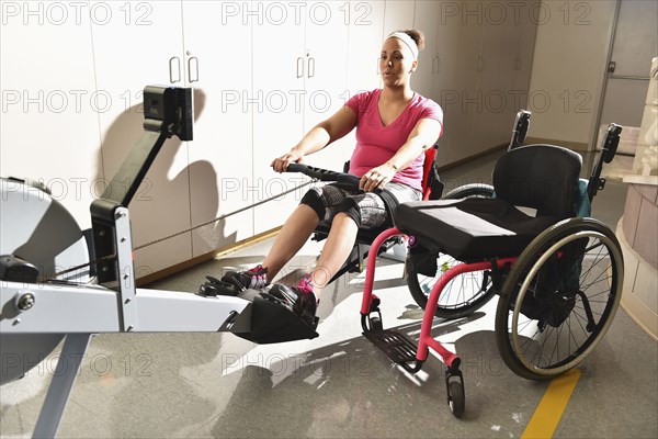
<svg viewBox="0 0 658 439">
<path fill-rule="evenodd" d="M 318 222 L 331 221 L 316 268 L 295 286 L 270 289 L 270 294 L 311 324 L 317 297 L 349 257 L 359 228 L 377 227 L 387 218 L 383 199 L 373 191 L 385 188 L 397 203 L 421 199 L 423 151 L 434 145 L 443 126 L 441 108 L 411 90 L 411 75 L 423 45 L 419 31 L 390 34 L 384 41 L 379 59 L 384 87 L 354 95 L 342 110 L 316 125 L 290 153 L 271 164 L 275 171 L 284 172 L 290 164 L 300 162 L 356 127 L 350 172 L 361 176 L 362 191 L 350 192 L 332 184 L 309 190 L 262 264 L 228 272 L 223 281 L 242 288 L 265 286 L 308 240 Z"/>
</svg>

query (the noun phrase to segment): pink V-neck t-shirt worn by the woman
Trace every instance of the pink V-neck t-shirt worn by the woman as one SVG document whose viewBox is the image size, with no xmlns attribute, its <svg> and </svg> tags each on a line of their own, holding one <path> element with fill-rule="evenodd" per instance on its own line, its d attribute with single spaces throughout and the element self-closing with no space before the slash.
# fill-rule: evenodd
<svg viewBox="0 0 658 439">
<path fill-rule="evenodd" d="M 431 99 L 413 93 L 402 113 L 384 126 L 377 103 L 382 90 L 365 91 L 353 95 L 345 105 L 356 114 L 356 147 L 350 159 L 350 172 L 363 176 L 368 170 L 390 159 L 407 142 L 409 134 L 421 119 L 434 119 L 443 131 L 443 111 Z M 424 154 L 397 172 L 393 181 L 422 190 L 422 162 Z"/>
</svg>

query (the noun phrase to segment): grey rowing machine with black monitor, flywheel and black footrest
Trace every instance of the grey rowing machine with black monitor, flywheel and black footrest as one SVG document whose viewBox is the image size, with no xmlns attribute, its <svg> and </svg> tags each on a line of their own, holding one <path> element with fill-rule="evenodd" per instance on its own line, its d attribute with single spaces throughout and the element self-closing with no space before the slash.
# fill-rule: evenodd
<svg viewBox="0 0 658 439">
<path fill-rule="evenodd" d="M 128 204 L 164 142 L 192 140 L 192 90 L 147 87 L 144 109 L 141 138 L 91 204 L 91 230 L 80 230 L 45 188 L 0 179 L 0 385 L 64 340 L 64 373 L 53 376 L 34 437 L 56 435 L 80 368 L 65 363 L 83 358 L 92 334 L 231 331 L 259 344 L 318 336 L 317 320 L 309 326 L 256 290 L 136 288 Z"/>
</svg>

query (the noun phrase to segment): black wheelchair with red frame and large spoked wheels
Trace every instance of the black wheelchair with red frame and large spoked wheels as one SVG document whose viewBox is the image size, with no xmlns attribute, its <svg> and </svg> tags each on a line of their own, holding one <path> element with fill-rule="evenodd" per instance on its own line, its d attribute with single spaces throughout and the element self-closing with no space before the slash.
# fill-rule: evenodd
<svg viewBox="0 0 658 439">
<path fill-rule="evenodd" d="M 520 116 L 526 124 L 529 113 L 519 113 L 517 122 Z M 370 243 L 371 255 L 379 255 L 390 239 L 407 239 L 407 283 L 424 313 L 418 342 L 384 328 L 371 257 L 360 311 L 363 335 L 409 373 L 421 370 L 430 349 L 436 352 L 446 364 L 447 402 L 456 417 L 465 410 L 461 359 L 432 337 L 435 316 L 466 317 L 498 295 L 495 331 L 504 363 L 524 379 L 548 380 L 592 352 L 621 300 L 621 246 L 605 224 L 590 217 L 621 127 L 609 126 L 589 179 L 580 178 L 579 154 L 520 146 L 524 133 L 514 133 L 490 187 L 402 203 L 395 209 L 395 226 Z"/>
</svg>

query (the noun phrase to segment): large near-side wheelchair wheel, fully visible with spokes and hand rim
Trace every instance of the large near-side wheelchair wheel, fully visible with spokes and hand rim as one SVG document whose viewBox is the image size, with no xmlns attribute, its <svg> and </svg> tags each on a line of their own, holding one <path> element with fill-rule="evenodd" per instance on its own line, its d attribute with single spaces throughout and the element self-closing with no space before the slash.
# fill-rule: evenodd
<svg viewBox="0 0 658 439">
<path fill-rule="evenodd" d="M 496 340 L 507 365 L 545 380 L 585 360 L 612 323 L 623 278 L 620 244 L 603 223 L 570 218 L 540 234 L 498 301 Z"/>
</svg>

